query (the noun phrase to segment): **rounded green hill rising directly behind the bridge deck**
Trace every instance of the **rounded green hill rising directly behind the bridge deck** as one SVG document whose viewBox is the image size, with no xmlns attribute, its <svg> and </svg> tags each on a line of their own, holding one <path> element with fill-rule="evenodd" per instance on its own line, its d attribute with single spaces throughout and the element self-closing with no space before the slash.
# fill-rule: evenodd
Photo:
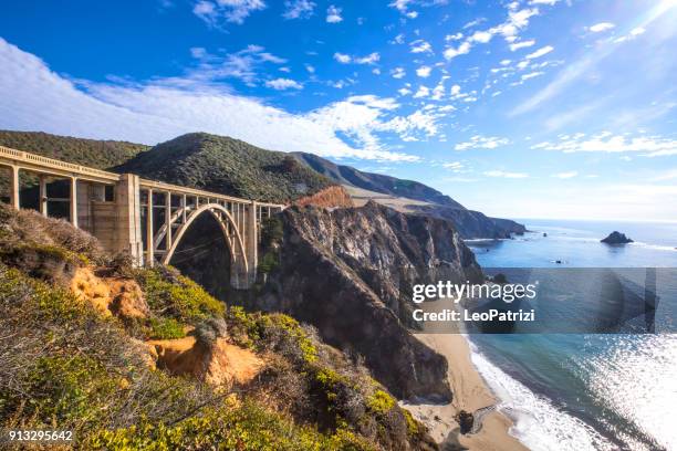
<svg viewBox="0 0 677 451">
<path fill-rule="evenodd" d="M 274 202 L 336 185 L 288 154 L 205 133 L 159 144 L 114 170 Z"/>
</svg>

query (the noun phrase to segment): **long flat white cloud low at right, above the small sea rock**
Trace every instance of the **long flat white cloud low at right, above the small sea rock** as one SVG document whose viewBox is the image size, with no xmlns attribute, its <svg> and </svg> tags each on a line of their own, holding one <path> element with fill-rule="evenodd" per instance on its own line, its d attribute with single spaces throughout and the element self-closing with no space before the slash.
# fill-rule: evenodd
<svg viewBox="0 0 677 451">
<path fill-rule="evenodd" d="M 602 151 L 602 153 L 639 153 L 645 157 L 660 157 L 677 155 L 677 139 L 659 136 L 628 137 L 614 135 L 608 132 L 591 136 L 583 134 L 564 136 L 555 143 L 544 141 L 531 147 L 532 149 L 560 150 L 564 153 Z"/>
</svg>

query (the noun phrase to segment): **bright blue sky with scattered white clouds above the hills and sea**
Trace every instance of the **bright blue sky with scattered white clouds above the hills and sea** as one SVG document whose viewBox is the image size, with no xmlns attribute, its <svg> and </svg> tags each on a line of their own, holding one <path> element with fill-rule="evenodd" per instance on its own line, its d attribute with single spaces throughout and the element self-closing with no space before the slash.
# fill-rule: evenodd
<svg viewBox="0 0 677 451">
<path fill-rule="evenodd" d="M 0 128 L 303 150 L 510 218 L 677 220 L 677 1 L 3 2 Z"/>
</svg>

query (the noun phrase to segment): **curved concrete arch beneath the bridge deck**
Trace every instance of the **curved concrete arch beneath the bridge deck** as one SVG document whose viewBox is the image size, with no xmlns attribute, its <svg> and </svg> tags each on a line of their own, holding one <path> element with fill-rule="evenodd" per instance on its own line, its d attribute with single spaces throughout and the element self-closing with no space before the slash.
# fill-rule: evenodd
<svg viewBox="0 0 677 451">
<path fill-rule="evenodd" d="M 249 272 L 250 262 L 247 259 L 247 251 L 244 248 L 244 240 L 242 239 L 242 233 L 238 229 L 238 224 L 235 219 L 230 214 L 223 206 L 220 203 L 206 203 L 197 209 L 190 211 L 188 217 L 186 218 L 186 222 L 184 222 L 175 232 L 174 239 L 171 242 L 171 247 L 165 252 L 162 258 L 163 264 L 169 264 L 171 261 L 171 256 L 176 252 L 179 247 L 184 234 L 188 231 L 192 222 L 200 217 L 200 214 L 209 212 L 219 224 L 221 232 L 223 233 L 223 239 L 230 250 L 231 255 L 231 282 L 236 284 L 241 277 L 244 277 Z M 183 209 L 177 211 L 175 214 L 176 218 L 183 214 Z M 173 218 L 174 220 L 175 218 Z M 158 238 L 159 233 L 158 233 Z"/>
</svg>

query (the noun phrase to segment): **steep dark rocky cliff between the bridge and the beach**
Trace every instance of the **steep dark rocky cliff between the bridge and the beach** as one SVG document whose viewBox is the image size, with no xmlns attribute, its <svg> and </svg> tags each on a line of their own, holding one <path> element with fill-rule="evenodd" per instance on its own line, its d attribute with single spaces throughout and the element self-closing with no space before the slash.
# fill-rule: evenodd
<svg viewBox="0 0 677 451">
<path fill-rule="evenodd" d="M 404 214 L 369 202 L 282 214 L 280 266 L 259 307 L 313 324 L 323 338 L 365 358 L 374 376 L 402 398 L 449 399 L 446 360 L 405 327 L 406 287 L 444 269 L 477 281 L 472 252 L 448 221 Z"/>
</svg>

